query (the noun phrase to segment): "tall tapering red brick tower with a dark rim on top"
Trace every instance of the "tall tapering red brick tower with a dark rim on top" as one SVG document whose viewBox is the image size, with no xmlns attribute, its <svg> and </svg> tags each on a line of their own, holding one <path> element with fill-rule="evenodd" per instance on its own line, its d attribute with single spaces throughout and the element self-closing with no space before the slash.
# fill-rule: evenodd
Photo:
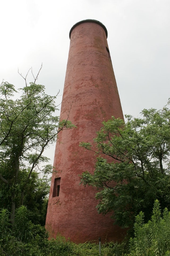
<svg viewBox="0 0 170 256">
<path fill-rule="evenodd" d="M 107 45 L 107 29 L 96 20 L 76 23 L 70 30 L 70 50 L 60 119 L 77 126 L 59 133 L 54 156 L 46 229 L 73 242 L 121 240 L 122 230 L 109 214 L 97 213 L 96 190 L 79 185 L 83 171 L 93 173 L 96 156 L 79 146 L 92 142 L 102 121 L 123 119 L 121 102 Z"/>
</svg>

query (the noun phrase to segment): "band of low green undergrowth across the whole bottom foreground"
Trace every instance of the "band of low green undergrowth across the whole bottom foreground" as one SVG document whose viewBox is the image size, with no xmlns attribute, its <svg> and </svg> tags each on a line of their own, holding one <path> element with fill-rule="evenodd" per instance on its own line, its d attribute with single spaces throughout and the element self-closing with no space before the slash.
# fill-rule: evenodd
<svg viewBox="0 0 170 256">
<path fill-rule="evenodd" d="M 0 211 L 0 256 L 99 256 L 99 244 L 74 244 L 60 234 L 48 240 L 45 228 L 28 220 L 25 206 L 17 209 L 13 225 L 9 217 L 7 209 Z M 136 216 L 134 238 L 102 244 L 101 256 L 170 256 L 170 212 L 162 213 L 156 200 L 148 223 L 142 212 Z"/>
</svg>

